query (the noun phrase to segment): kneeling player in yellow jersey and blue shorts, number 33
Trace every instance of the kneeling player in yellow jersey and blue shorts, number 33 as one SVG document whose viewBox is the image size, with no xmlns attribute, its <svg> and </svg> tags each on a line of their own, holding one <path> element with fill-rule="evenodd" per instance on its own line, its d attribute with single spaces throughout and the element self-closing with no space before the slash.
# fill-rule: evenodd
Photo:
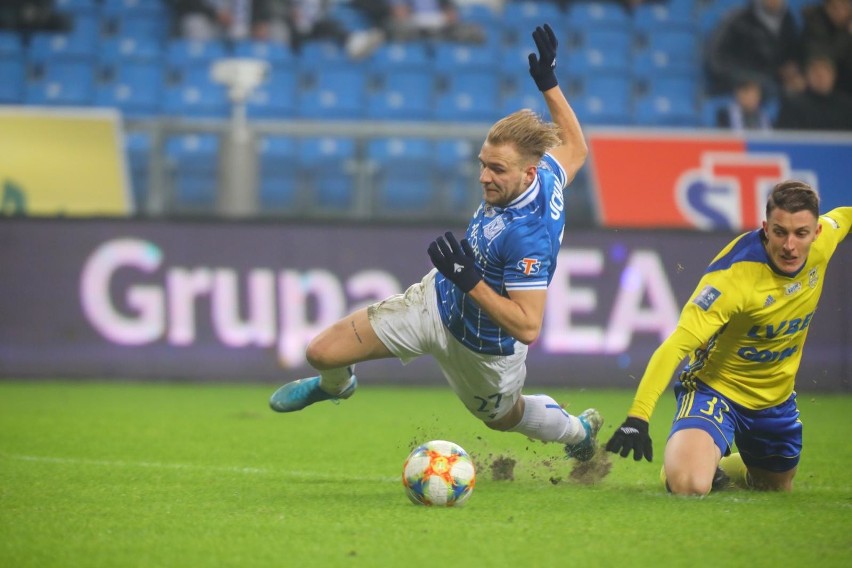
<svg viewBox="0 0 852 568">
<path fill-rule="evenodd" d="M 728 468 L 733 480 L 739 463 L 741 482 L 790 491 L 802 449 L 796 372 L 828 261 L 850 228 L 852 207 L 820 216 L 810 186 L 776 185 L 763 228 L 734 239 L 707 268 L 606 449 L 651 461 L 648 422 L 689 355 L 675 383 L 677 412 L 663 460 L 669 491 L 706 495 L 720 479 L 720 461 L 723 477 Z M 734 443 L 739 456 L 731 455 Z"/>
</svg>

